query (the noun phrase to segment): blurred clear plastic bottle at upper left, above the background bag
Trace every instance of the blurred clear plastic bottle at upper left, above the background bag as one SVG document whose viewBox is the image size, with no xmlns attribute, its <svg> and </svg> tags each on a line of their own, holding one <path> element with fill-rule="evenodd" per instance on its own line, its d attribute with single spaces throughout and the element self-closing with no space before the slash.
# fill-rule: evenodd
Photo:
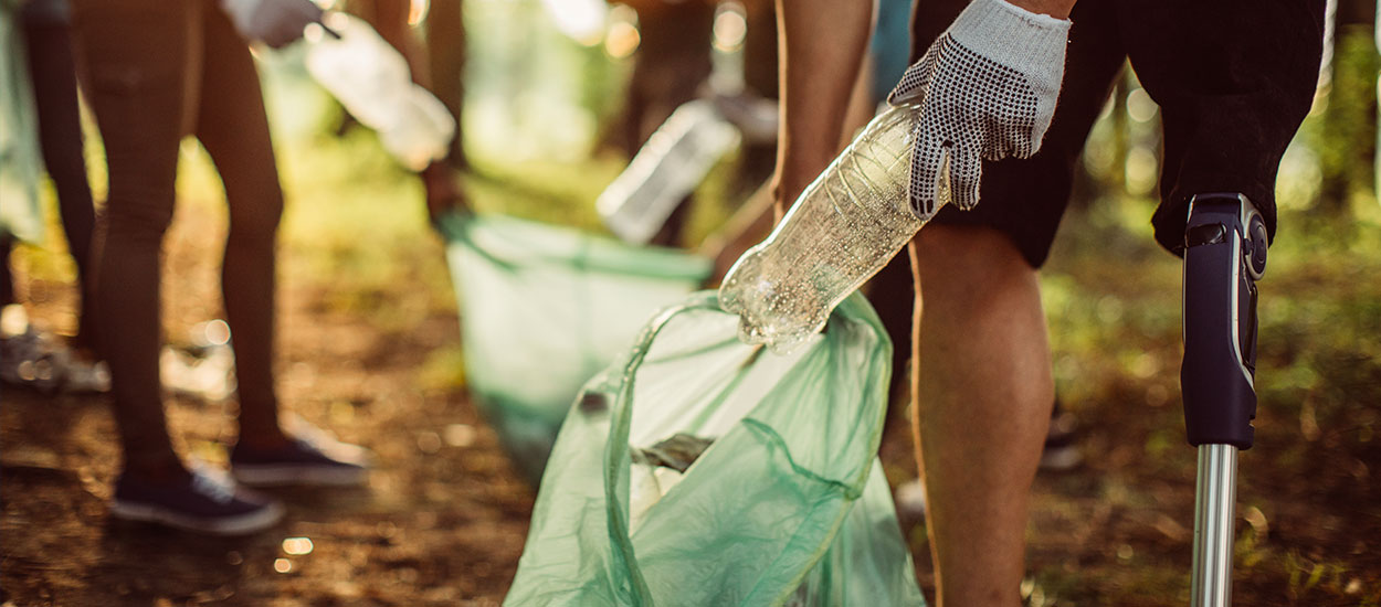
<svg viewBox="0 0 1381 607">
<path fill-rule="evenodd" d="M 307 70 L 380 143 L 414 171 L 446 155 L 456 121 L 435 95 L 412 80 L 407 61 L 365 21 L 327 12 L 309 25 Z"/>
</svg>

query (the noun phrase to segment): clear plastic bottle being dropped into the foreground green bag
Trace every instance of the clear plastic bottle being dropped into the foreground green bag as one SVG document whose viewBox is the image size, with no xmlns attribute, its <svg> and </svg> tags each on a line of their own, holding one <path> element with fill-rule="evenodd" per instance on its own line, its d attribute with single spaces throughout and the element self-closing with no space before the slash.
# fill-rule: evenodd
<svg viewBox="0 0 1381 607">
<path fill-rule="evenodd" d="M 739 315 L 740 339 L 791 352 L 921 229 L 907 196 L 918 113 L 902 105 L 873 119 L 772 235 L 733 263 L 720 306 Z M 939 204 L 947 201 L 940 192 Z"/>
</svg>

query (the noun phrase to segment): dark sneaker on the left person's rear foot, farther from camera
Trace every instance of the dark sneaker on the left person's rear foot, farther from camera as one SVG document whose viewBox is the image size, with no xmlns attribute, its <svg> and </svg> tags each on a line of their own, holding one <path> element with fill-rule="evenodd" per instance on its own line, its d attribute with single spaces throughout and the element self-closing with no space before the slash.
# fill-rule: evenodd
<svg viewBox="0 0 1381 607">
<path fill-rule="evenodd" d="M 255 487 L 284 484 L 360 486 L 369 479 L 369 454 L 315 428 L 294 432 L 289 444 L 253 450 L 236 444 L 231 470 L 240 483 Z"/>
</svg>

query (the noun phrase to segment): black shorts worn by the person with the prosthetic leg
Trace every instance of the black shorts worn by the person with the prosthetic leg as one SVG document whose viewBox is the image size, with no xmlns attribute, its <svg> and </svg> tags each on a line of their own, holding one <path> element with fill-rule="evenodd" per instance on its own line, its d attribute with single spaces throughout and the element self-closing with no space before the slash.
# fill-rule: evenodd
<svg viewBox="0 0 1381 607">
<path fill-rule="evenodd" d="M 911 59 L 965 1 L 920 0 Z M 1040 152 L 983 161 L 981 203 L 943 208 L 940 223 L 1007 233 L 1040 268 L 1069 203 L 1074 163 L 1126 59 L 1160 105 L 1163 149 L 1156 240 L 1184 247 L 1189 197 L 1247 195 L 1276 230 L 1276 171 L 1309 112 L 1319 77 L 1323 0 L 1080 0 L 1070 15 L 1065 86 Z"/>
</svg>

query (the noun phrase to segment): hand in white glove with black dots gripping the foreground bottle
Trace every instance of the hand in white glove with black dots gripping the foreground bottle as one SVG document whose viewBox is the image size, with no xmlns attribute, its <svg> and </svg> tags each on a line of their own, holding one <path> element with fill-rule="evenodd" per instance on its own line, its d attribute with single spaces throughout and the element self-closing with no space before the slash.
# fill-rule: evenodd
<svg viewBox="0 0 1381 607">
<path fill-rule="evenodd" d="M 910 66 L 888 103 L 916 103 L 911 210 L 928 221 L 946 201 L 978 204 L 982 159 L 1029 157 L 1055 115 L 1068 19 L 974 0 Z"/>
</svg>

